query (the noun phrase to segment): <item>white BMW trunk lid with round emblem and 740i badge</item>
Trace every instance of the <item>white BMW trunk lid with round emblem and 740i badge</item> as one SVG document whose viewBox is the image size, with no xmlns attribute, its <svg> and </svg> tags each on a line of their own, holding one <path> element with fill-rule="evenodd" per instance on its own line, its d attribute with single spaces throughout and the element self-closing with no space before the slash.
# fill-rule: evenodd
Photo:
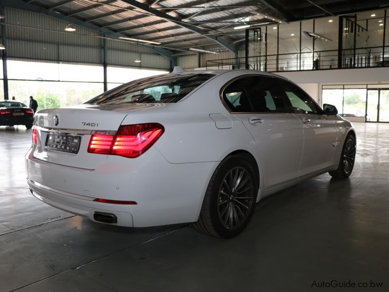
<svg viewBox="0 0 389 292">
<path fill-rule="evenodd" d="M 96 169 L 104 163 L 107 155 L 88 153 L 92 133 L 104 131 L 103 133 L 114 134 L 128 114 L 160 107 L 161 104 L 80 105 L 39 110 L 35 114 L 34 123 L 38 130 L 39 144 L 35 146 L 33 155 L 50 163 Z M 70 144 L 67 139 L 70 139 Z M 78 152 L 76 146 L 79 146 Z M 70 152 L 73 150 L 77 153 Z"/>
</svg>

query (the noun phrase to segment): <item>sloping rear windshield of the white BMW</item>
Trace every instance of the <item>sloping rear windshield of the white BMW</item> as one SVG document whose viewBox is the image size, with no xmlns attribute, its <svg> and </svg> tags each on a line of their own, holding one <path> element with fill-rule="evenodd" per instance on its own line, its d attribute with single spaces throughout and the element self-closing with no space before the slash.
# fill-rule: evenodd
<svg viewBox="0 0 389 292">
<path fill-rule="evenodd" d="M 174 103 L 213 76 L 194 73 L 143 78 L 104 92 L 86 104 Z"/>
</svg>

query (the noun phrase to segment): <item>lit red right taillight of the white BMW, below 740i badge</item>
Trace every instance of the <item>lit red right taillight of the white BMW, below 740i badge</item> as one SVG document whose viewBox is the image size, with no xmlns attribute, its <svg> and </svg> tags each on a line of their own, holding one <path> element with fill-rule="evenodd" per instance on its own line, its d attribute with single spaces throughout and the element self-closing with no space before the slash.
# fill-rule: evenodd
<svg viewBox="0 0 389 292">
<path fill-rule="evenodd" d="M 153 146 L 164 131 L 158 123 L 120 126 L 115 136 L 92 135 L 88 152 L 136 158 Z"/>
</svg>

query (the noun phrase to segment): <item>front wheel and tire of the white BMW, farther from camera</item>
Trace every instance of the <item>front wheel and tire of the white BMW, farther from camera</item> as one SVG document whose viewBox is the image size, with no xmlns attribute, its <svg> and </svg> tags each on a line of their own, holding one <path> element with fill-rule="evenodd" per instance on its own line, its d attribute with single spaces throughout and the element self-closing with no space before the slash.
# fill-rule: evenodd
<svg viewBox="0 0 389 292">
<path fill-rule="evenodd" d="M 348 178 L 353 172 L 355 163 L 356 144 L 352 134 L 348 134 L 340 154 L 339 165 L 336 170 L 329 171 L 330 176 L 336 179 Z"/>
</svg>

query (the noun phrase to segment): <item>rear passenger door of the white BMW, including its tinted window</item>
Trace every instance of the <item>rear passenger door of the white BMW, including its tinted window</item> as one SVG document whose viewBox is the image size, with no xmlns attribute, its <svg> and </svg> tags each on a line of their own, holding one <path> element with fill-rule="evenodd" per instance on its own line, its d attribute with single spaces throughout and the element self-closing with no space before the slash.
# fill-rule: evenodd
<svg viewBox="0 0 389 292">
<path fill-rule="evenodd" d="M 274 77 L 246 75 L 223 91 L 223 101 L 259 148 L 265 188 L 296 180 L 302 155 L 301 121 L 288 112 Z"/>
</svg>

